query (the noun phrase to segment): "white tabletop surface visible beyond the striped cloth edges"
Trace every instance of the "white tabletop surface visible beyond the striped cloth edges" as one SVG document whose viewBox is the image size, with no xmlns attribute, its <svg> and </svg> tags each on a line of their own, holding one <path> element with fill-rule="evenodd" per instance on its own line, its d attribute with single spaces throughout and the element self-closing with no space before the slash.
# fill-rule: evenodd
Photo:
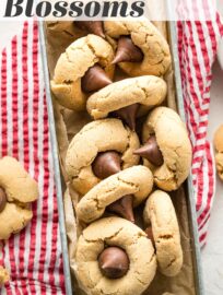
<svg viewBox="0 0 223 295">
<path fill-rule="evenodd" d="M 10 43 L 20 30 L 22 30 L 21 23 L 4 22 L 0 24 L 0 50 Z M 213 74 L 209 125 L 209 139 L 211 141 L 215 129 L 223 123 L 223 71 L 218 63 L 214 64 Z M 202 264 L 206 294 L 223 295 L 223 184 L 219 179 L 210 220 L 208 244 L 202 250 Z"/>
</svg>

